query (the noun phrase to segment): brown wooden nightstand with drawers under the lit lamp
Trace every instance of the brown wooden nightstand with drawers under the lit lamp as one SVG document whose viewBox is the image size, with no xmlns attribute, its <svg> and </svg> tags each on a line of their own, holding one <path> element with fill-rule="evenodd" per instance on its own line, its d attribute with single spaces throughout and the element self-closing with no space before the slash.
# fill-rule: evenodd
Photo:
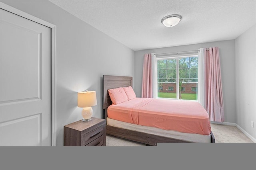
<svg viewBox="0 0 256 170">
<path fill-rule="evenodd" d="M 106 146 L 106 120 L 92 117 L 65 125 L 64 146 Z"/>
</svg>

